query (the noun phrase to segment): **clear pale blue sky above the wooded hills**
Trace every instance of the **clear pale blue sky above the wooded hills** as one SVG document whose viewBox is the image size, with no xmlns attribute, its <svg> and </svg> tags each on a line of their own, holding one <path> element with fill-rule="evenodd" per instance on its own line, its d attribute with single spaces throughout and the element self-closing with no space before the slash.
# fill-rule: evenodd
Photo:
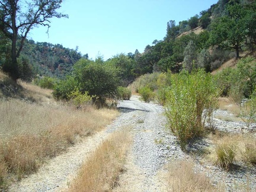
<svg viewBox="0 0 256 192">
<path fill-rule="evenodd" d="M 46 27 L 33 28 L 28 39 L 62 44 L 89 58 L 108 59 L 119 53 L 143 52 L 153 40 L 165 37 L 167 22 L 187 20 L 217 0 L 64 0 L 60 12 L 69 18 L 52 18 Z"/>
</svg>

